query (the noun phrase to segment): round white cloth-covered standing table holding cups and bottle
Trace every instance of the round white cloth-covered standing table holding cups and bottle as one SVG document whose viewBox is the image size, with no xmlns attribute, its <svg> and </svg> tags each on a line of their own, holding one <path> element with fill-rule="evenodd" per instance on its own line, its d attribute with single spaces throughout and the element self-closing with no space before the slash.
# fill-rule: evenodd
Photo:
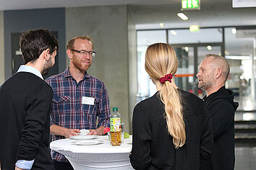
<svg viewBox="0 0 256 170">
<path fill-rule="evenodd" d="M 68 138 L 51 142 L 50 148 L 63 154 L 75 170 L 132 169 L 129 162 L 132 136 L 124 138 L 121 146 L 111 146 L 107 135 L 98 136 L 97 139 L 91 140 L 102 140 L 103 143 L 80 146 L 75 144 L 77 140 Z"/>
</svg>

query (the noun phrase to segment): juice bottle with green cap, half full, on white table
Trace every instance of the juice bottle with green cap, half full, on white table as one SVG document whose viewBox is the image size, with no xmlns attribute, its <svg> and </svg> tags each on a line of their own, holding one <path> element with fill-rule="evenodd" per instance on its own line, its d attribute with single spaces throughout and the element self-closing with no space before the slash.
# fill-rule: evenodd
<svg viewBox="0 0 256 170">
<path fill-rule="evenodd" d="M 113 112 L 110 115 L 110 134 L 111 146 L 121 145 L 121 115 L 118 112 L 118 107 L 113 107 Z"/>
</svg>

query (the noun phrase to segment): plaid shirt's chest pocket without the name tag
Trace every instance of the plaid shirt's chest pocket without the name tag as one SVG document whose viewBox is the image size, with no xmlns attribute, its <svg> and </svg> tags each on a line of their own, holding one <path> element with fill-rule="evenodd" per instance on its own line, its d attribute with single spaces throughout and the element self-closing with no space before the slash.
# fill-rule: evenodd
<svg viewBox="0 0 256 170">
<path fill-rule="evenodd" d="M 70 112 L 71 103 L 69 96 L 57 96 L 53 98 L 53 110 L 56 113 L 64 114 L 64 112 Z"/>
</svg>

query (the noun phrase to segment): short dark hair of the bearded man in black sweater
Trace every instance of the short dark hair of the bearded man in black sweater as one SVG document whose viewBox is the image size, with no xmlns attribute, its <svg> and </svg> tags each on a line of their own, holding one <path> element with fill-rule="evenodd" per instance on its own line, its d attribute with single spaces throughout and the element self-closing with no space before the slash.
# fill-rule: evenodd
<svg viewBox="0 0 256 170">
<path fill-rule="evenodd" d="M 43 50 L 49 49 L 50 54 L 59 50 L 59 42 L 56 37 L 46 29 L 28 30 L 20 37 L 20 48 L 24 63 L 35 61 Z"/>
</svg>

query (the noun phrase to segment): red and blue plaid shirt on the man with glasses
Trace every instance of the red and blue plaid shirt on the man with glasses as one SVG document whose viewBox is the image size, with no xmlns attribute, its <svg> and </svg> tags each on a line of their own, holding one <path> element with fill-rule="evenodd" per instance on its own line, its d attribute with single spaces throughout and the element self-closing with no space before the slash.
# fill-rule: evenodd
<svg viewBox="0 0 256 170">
<path fill-rule="evenodd" d="M 54 91 L 51 125 L 59 125 L 69 129 L 96 129 L 109 127 L 110 109 L 106 86 L 99 79 L 85 73 L 77 84 L 67 68 L 63 73 L 51 76 L 46 82 Z M 93 97 L 94 104 L 82 104 L 82 97 Z M 97 123 L 98 118 L 98 125 Z M 64 136 L 53 135 L 53 140 Z M 56 151 L 51 151 L 56 161 L 67 159 Z"/>
</svg>

